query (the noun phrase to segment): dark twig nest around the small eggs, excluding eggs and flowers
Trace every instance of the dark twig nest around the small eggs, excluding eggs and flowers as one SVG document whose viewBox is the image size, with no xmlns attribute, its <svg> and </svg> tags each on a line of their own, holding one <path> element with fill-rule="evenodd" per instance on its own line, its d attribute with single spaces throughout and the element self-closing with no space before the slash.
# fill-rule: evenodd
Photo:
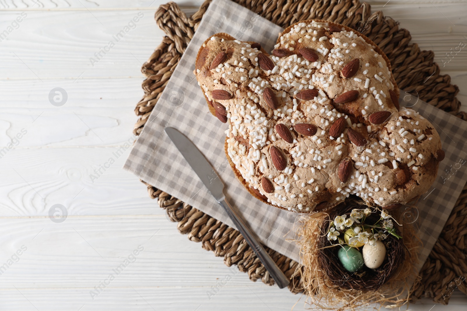
<svg viewBox="0 0 467 311">
<path fill-rule="evenodd" d="M 317 237 L 317 259 L 321 270 L 334 285 L 347 290 L 379 290 L 389 278 L 395 275 L 397 268 L 405 259 L 405 249 L 402 238 L 387 235 L 381 242 L 386 246 L 386 257 L 379 268 L 370 269 L 363 265 L 362 270 L 348 272 L 338 259 L 338 251 L 342 247 L 337 241 L 328 240 L 326 234 L 332 226 L 336 216 L 349 216 L 354 208 L 362 208 L 362 202 L 353 200 L 350 204 L 340 204 L 334 208 L 329 219 L 318 224 L 319 236 Z M 370 207 L 375 210 L 375 207 Z M 365 224 L 376 223 L 380 220 L 379 213 L 371 213 L 365 219 Z M 399 230 L 394 226 L 394 232 L 399 235 Z"/>
</svg>

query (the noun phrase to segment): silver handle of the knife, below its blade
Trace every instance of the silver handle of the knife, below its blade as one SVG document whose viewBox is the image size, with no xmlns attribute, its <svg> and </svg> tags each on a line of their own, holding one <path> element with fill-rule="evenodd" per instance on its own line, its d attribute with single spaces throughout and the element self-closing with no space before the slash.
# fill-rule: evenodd
<svg viewBox="0 0 467 311">
<path fill-rule="evenodd" d="M 245 241 L 247 241 L 248 245 L 256 253 L 256 257 L 259 258 L 266 270 L 268 270 L 277 286 L 279 286 L 279 288 L 287 287 L 290 283 L 290 279 L 287 278 L 282 270 L 279 269 L 274 260 L 272 260 L 271 256 L 269 256 L 268 252 L 263 248 L 262 244 L 258 241 L 247 225 L 245 225 L 239 214 L 233 209 L 233 207 L 229 204 L 229 202 L 226 201 L 225 198 L 218 201 L 218 203 L 224 208 L 230 219 L 232 219 L 235 227 L 237 227 L 238 231 L 240 231 L 241 235 L 243 235 Z"/>
</svg>

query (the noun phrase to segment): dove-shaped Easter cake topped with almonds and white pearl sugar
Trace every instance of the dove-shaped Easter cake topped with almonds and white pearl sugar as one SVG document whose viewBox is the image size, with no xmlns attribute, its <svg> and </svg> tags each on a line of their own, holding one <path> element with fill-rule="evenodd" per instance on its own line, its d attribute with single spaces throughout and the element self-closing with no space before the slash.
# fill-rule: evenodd
<svg viewBox="0 0 467 311">
<path fill-rule="evenodd" d="M 350 194 L 382 207 L 407 203 L 428 190 L 444 158 L 432 124 L 399 111 L 386 55 L 342 25 L 296 23 L 272 55 L 214 35 L 195 74 L 210 110 L 228 124 L 234 172 L 270 205 L 321 211 Z"/>
</svg>

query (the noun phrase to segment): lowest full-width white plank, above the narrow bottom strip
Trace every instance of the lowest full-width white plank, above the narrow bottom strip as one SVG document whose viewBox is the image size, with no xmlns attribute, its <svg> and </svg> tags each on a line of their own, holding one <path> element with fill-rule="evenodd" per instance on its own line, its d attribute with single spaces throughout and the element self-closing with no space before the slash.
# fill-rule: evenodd
<svg viewBox="0 0 467 311">
<path fill-rule="evenodd" d="M 1 218 L 0 224 L 0 292 L 14 284 L 82 289 L 89 297 L 110 274 L 111 287 L 209 288 L 229 272 L 230 286 L 254 285 L 246 273 L 229 270 L 222 258 L 179 234 L 164 216 L 69 216 L 62 223 L 48 217 Z"/>
</svg>

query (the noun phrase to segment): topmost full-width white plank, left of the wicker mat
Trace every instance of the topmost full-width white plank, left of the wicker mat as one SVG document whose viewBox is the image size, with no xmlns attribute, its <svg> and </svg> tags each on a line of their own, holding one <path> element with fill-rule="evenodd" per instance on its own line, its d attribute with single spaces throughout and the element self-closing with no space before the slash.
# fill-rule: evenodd
<svg viewBox="0 0 467 311">
<path fill-rule="evenodd" d="M 23 20 L 2 37 L 0 79 L 140 77 L 142 63 L 163 37 L 154 12 L 31 11 L 23 18 L 1 11 L 1 31 L 18 16 Z"/>
</svg>

